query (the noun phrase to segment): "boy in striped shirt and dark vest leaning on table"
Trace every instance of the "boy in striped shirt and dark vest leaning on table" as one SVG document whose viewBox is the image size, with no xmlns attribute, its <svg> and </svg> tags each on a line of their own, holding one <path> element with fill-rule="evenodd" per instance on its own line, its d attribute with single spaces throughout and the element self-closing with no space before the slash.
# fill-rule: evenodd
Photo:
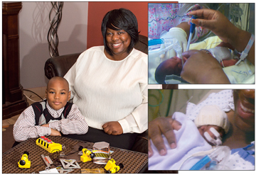
<svg viewBox="0 0 256 175">
<path fill-rule="evenodd" d="M 68 81 L 53 77 L 46 88 L 46 100 L 26 108 L 14 124 L 14 140 L 23 142 L 41 136 L 87 133 L 88 125 L 78 106 L 69 103 Z"/>
</svg>

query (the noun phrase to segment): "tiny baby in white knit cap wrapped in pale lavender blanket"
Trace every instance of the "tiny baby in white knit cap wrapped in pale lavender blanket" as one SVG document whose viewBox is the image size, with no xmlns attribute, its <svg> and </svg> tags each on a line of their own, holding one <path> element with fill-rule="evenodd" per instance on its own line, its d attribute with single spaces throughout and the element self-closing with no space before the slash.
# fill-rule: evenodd
<svg viewBox="0 0 256 175">
<path fill-rule="evenodd" d="M 167 154 L 161 156 L 151 143 L 154 154 L 149 157 L 149 170 L 178 170 L 192 154 L 210 150 L 213 145 L 221 144 L 221 137 L 229 130 L 228 116 L 218 106 L 203 106 L 194 123 L 179 112 L 174 113 L 173 118 L 181 123 L 181 128 L 174 130 L 177 147 L 171 149 L 163 137 Z M 181 169 L 190 169 L 201 158 L 191 157 Z"/>
</svg>

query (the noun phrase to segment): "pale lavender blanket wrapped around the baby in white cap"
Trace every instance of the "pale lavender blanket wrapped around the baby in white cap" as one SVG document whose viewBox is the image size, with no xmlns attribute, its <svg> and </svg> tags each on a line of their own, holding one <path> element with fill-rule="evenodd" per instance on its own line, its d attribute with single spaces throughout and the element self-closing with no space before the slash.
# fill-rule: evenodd
<svg viewBox="0 0 256 175">
<path fill-rule="evenodd" d="M 150 140 L 154 154 L 149 158 L 149 170 L 178 170 L 184 160 L 191 154 L 212 148 L 200 135 L 196 125 L 189 120 L 185 114 L 176 112 L 174 113 L 173 118 L 182 123 L 180 130 L 174 130 L 177 147 L 171 149 L 166 138 L 163 136 L 167 154 L 165 156 L 160 156 L 156 147 Z M 203 157 L 193 157 L 188 159 L 181 166 L 181 169 L 190 169 L 202 158 Z"/>
</svg>

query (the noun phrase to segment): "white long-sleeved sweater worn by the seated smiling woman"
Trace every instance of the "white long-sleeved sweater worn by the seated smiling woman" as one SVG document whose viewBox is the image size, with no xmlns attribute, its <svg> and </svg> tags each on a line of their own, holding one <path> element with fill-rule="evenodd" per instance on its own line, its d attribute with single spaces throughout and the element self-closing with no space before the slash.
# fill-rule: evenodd
<svg viewBox="0 0 256 175">
<path fill-rule="evenodd" d="M 90 127 L 118 121 L 124 133 L 148 128 L 147 59 L 135 49 L 121 61 L 108 59 L 104 46 L 82 52 L 65 79 Z"/>
</svg>

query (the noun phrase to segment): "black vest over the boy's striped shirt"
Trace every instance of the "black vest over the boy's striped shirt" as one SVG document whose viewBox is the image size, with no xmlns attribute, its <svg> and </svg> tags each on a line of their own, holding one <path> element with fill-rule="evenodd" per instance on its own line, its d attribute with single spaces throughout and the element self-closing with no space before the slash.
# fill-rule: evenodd
<svg viewBox="0 0 256 175">
<path fill-rule="evenodd" d="M 48 109 L 46 108 L 46 100 L 41 101 L 41 102 L 36 102 L 31 104 L 31 106 L 33 107 L 33 111 L 35 113 L 35 120 L 36 120 L 36 125 L 39 124 L 39 121 L 41 119 L 41 117 L 46 118 L 46 124 L 50 121 L 50 120 L 61 120 L 62 118 L 67 118 L 68 113 L 70 113 L 70 109 L 72 107 L 73 103 L 67 103 L 64 107 L 63 113 L 60 115 L 60 117 L 58 118 L 53 118 L 52 115 L 50 115 Z M 43 115 L 42 115 L 43 114 Z M 41 116 L 42 115 L 42 116 Z M 45 123 L 41 123 L 42 125 Z"/>
</svg>

